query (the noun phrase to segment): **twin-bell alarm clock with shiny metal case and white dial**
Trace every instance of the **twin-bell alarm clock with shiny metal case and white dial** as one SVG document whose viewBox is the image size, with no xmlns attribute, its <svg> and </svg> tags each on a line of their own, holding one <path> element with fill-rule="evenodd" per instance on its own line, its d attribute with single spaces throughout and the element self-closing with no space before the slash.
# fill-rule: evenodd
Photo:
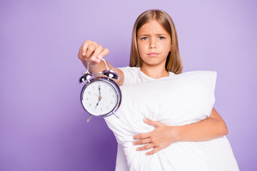
<svg viewBox="0 0 257 171">
<path fill-rule="evenodd" d="M 94 73 L 89 72 L 89 63 L 87 63 L 86 73 L 82 73 L 83 76 L 79 79 L 79 83 L 86 83 L 81 90 L 81 104 L 89 114 L 89 118 L 86 121 L 89 123 L 91 116 L 107 117 L 109 115 L 118 115 L 118 110 L 121 105 L 121 90 L 115 81 L 112 79 L 119 79 L 114 69 L 108 68 L 106 61 L 102 58 L 106 66 L 106 70 L 99 72 L 103 74 L 102 77 L 94 77 Z"/>
</svg>

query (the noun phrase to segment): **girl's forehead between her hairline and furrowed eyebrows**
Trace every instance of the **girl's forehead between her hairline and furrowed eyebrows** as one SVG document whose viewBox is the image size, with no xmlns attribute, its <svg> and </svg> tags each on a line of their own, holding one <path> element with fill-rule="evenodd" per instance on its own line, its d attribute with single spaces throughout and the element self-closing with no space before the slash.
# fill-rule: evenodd
<svg viewBox="0 0 257 171">
<path fill-rule="evenodd" d="M 138 35 L 140 34 L 168 34 L 168 32 L 158 21 L 151 20 L 138 29 Z"/>
</svg>

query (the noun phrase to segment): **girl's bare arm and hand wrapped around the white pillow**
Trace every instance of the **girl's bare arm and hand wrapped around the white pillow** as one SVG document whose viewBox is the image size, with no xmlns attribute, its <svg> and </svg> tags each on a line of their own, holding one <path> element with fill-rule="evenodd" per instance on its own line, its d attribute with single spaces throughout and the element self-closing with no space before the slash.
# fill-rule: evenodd
<svg viewBox="0 0 257 171">
<path fill-rule="evenodd" d="M 153 150 L 147 152 L 146 155 L 153 155 L 173 142 L 212 140 L 228 134 L 226 123 L 214 108 L 209 118 L 189 125 L 168 126 L 158 121 L 146 119 L 143 121 L 148 125 L 153 125 L 155 130 L 134 136 L 133 139 L 136 141 L 133 145 L 144 145 L 138 147 L 137 150 L 148 150 L 153 147 Z"/>
</svg>

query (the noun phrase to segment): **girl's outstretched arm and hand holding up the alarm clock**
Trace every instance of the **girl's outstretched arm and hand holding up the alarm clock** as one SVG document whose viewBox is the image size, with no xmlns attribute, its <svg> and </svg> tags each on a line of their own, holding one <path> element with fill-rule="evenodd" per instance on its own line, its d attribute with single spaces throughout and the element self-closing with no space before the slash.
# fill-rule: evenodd
<svg viewBox="0 0 257 171">
<path fill-rule="evenodd" d="M 104 71 L 106 66 L 104 65 L 104 61 L 101 61 L 101 58 L 104 58 L 109 53 L 108 48 L 103 48 L 103 46 L 97 44 L 94 41 L 85 41 L 81 48 L 79 48 L 78 57 L 81 62 L 87 67 L 87 63 L 91 60 L 90 63 L 90 72 L 94 73 L 94 76 L 101 76 L 99 72 Z M 108 61 L 106 61 L 108 68 L 114 68 L 114 72 L 118 73 L 119 80 L 114 81 L 122 86 L 124 83 L 124 73 L 120 70 L 111 66 Z"/>
</svg>

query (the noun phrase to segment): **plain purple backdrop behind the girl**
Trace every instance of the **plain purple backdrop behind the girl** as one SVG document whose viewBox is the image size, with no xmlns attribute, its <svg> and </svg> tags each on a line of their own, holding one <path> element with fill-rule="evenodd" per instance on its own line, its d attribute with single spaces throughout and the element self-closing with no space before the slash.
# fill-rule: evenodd
<svg viewBox="0 0 257 171">
<path fill-rule="evenodd" d="M 116 140 L 79 101 L 87 39 L 128 66 L 133 22 L 163 9 L 183 71 L 218 71 L 215 108 L 241 170 L 256 170 L 256 1 L 0 1 L 0 170 L 114 170 Z M 222 156 L 221 156 L 222 157 Z M 226 160 L 226 159 L 224 159 Z"/>
</svg>

